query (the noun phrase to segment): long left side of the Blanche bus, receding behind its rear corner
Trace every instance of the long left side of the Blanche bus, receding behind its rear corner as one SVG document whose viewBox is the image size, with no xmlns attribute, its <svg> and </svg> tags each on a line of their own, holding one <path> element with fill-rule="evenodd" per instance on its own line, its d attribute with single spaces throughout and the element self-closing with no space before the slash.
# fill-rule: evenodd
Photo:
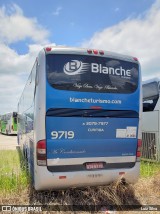
<svg viewBox="0 0 160 214">
<path fill-rule="evenodd" d="M 27 167 L 34 180 L 34 118 L 35 118 L 35 75 L 36 63 L 33 66 L 27 84 L 18 104 L 18 143 L 27 160 Z"/>
</svg>

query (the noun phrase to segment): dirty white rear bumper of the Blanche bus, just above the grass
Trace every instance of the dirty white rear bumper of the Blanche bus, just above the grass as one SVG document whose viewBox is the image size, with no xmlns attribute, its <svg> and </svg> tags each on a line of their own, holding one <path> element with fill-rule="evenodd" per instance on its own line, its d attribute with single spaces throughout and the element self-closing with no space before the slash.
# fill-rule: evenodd
<svg viewBox="0 0 160 214">
<path fill-rule="evenodd" d="M 58 190 L 65 188 L 106 185 L 120 179 L 122 177 L 119 175 L 120 172 L 125 172 L 123 177 L 128 183 L 135 183 L 139 178 L 140 162 L 136 162 L 134 167 L 128 169 L 58 173 L 49 172 L 47 167 L 37 166 L 34 176 L 34 187 L 36 190 Z M 66 178 L 64 176 L 66 176 Z"/>
</svg>

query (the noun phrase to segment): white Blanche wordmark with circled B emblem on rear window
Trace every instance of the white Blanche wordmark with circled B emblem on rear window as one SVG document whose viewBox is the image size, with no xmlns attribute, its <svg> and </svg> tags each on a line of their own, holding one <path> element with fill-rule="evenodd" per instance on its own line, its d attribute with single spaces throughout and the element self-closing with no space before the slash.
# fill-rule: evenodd
<svg viewBox="0 0 160 214">
<path fill-rule="evenodd" d="M 131 77 L 131 70 L 125 70 L 122 66 L 113 68 L 103 66 L 102 64 L 97 63 L 83 63 L 78 60 L 72 60 L 71 62 L 67 62 L 64 65 L 64 73 L 67 75 L 77 75 L 83 74 L 88 69 L 91 69 L 92 73 L 102 73 L 102 74 L 109 74 L 115 76 L 122 76 L 122 77 Z"/>
</svg>

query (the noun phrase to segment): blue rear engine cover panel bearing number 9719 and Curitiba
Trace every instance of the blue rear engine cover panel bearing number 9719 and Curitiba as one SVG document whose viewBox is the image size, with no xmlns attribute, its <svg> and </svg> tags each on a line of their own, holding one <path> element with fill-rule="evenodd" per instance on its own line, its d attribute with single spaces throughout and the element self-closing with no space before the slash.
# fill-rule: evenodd
<svg viewBox="0 0 160 214">
<path fill-rule="evenodd" d="M 127 127 L 136 128 L 134 138 L 116 137 L 117 130 Z M 138 118 L 46 117 L 47 158 L 136 155 L 137 127 Z"/>
</svg>

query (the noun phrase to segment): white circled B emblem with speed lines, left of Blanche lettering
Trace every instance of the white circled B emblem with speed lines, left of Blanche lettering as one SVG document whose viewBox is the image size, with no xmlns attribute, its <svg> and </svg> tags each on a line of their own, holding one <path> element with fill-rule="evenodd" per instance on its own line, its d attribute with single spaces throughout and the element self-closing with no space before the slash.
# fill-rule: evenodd
<svg viewBox="0 0 160 214">
<path fill-rule="evenodd" d="M 88 70 L 89 64 L 78 60 L 72 60 L 64 65 L 63 71 L 67 75 L 83 74 Z"/>
</svg>

